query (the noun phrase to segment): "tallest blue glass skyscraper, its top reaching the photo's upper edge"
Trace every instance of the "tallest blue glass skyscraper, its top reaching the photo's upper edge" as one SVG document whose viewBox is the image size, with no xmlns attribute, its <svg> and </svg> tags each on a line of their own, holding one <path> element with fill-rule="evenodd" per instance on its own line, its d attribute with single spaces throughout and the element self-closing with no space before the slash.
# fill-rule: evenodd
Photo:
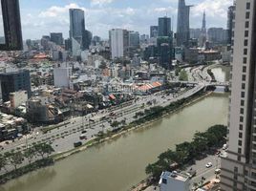
<svg viewBox="0 0 256 191">
<path fill-rule="evenodd" d="M 186 46 L 189 42 L 189 12 L 191 6 L 185 5 L 185 0 L 179 0 L 177 20 L 177 46 Z"/>
</svg>

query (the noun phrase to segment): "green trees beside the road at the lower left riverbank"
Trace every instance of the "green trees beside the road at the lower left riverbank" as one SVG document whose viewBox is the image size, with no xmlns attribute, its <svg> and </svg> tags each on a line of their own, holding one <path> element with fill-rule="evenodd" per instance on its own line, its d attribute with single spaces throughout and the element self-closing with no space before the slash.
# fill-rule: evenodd
<svg viewBox="0 0 256 191">
<path fill-rule="evenodd" d="M 5 154 L 0 154 L 0 171 L 5 170 L 8 172 L 7 166 L 13 166 L 16 171 L 17 167 L 26 161 L 25 159 L 31 164 L 34 160 L 49 158 L 53 152 L 54 150 L 51 144 L 40 143 L 33 144 L 23 152 L 11 151 Z"/>
</svg>

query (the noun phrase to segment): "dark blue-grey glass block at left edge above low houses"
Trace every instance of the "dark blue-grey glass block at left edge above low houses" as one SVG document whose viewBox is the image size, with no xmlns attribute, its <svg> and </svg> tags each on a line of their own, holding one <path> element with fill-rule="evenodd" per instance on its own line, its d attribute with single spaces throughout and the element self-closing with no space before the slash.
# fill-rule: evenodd
<svg viewBox="0 0 256 191">
<path fill-rule="evenodd" d="M 27 70 L 13 71 L 0 74 L 1 92 L 3 101 L 9 101 L 10 93 L 27 91 L 32 96 L 31 76 Z"/>
</svg>

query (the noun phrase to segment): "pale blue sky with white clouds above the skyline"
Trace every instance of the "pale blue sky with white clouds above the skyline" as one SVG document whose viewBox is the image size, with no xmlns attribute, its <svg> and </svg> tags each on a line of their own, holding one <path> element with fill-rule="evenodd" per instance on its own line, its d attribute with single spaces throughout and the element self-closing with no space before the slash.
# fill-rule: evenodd
<svg viewBox="0 0 256 191">
<path fill-rule="evenodd" d="M 194 5 L 190 14 L 191 28 L 201 28 L 203 11 L 207 27 L 226 27 L 226 11 L 233 0 L 186 0 Z M 20 0 L 24 39 L 39 39 L 50 32 L 69 33 L 69 9 L 85 11 L 86 28 L 95 35 L 108 37 L 112 28 L 149 33 L 150 25 L 157 25 L 158 17 L 174 18 L 176 30 L 178 0 Z M 0 19 L 0 35 L 2 31 Z"/>
</svg>

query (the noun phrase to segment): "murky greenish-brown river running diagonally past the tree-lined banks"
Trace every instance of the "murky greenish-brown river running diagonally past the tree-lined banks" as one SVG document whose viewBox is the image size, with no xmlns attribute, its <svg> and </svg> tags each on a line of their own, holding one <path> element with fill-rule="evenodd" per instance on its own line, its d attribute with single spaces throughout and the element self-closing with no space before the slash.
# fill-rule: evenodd
<svg viewBox="0 0 256 191">
<path fill-rule="evenodd" d="M 126 191 L 145 166 L 196 131 L 227 123 L 228 94 L 212 94 L 176 114 L 0 186 L 0 191 Z"/>
</svg>

